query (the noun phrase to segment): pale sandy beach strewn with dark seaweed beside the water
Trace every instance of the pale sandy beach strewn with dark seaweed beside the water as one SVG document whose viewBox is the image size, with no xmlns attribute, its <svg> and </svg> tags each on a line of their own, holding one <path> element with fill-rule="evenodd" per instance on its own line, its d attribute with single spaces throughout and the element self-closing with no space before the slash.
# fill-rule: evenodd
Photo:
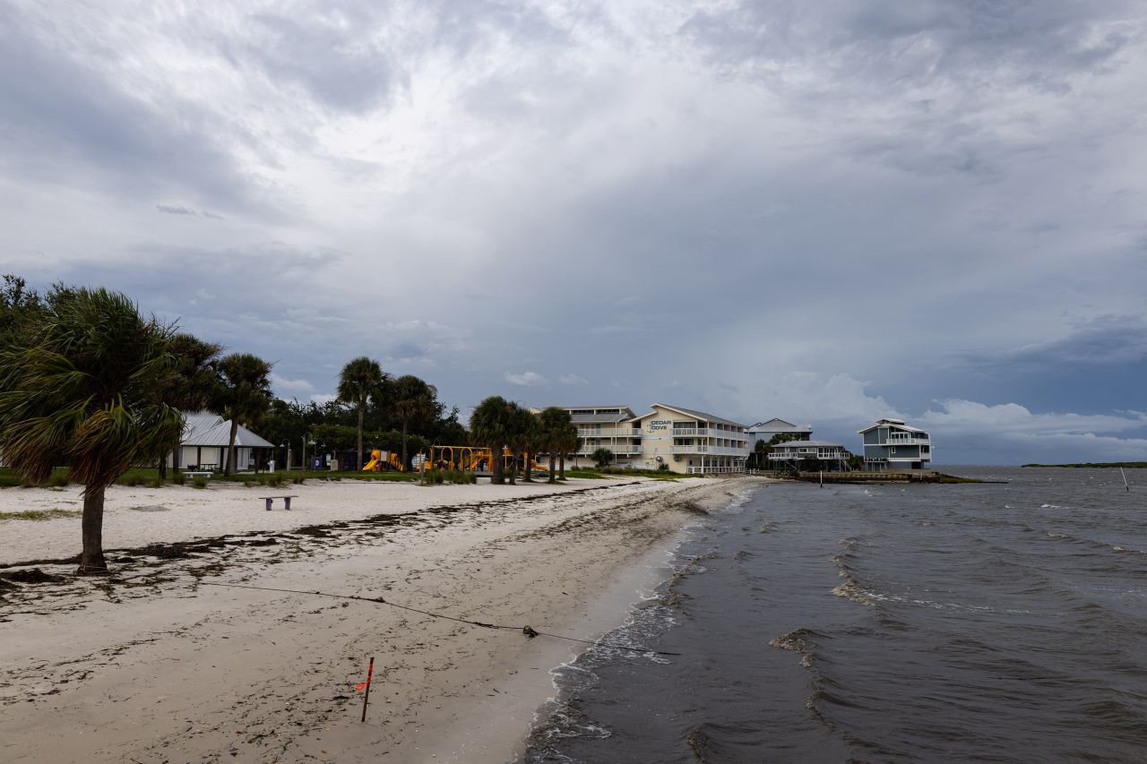
<svg viewBox="0 0 1147 764">
<path fill-rule="evenodd" d="M 586 648 L 522 629 L 599 638 L 684 527 L 758 484 L 116 486 L 109 578 L 69 575 L 78 517 L 0 522 L 0 577 L 39 571 L 0 587 L 0 759 L 514 761 Z M 291 512 L 263 509 L 284 492 Z M 78 500 L 7 489 L 0 512 Z"/>
</svg>

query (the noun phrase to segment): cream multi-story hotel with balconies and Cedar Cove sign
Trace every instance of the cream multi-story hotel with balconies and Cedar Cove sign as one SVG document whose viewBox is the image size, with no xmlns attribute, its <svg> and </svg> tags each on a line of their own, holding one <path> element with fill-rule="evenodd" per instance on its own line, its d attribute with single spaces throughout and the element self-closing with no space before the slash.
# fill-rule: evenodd
<svg viewBox="0 0 1147 764">
<path fill-rule="evenodd" d="M 701 411 L 653 404 L 634 416 L 627 406 L 565 407 L 582 437 L 578 457 L 609 449 L 614 463 L 639 469 L 665 465 L 682 474 L 743 473 L 748 428 Z"/>
</svg>

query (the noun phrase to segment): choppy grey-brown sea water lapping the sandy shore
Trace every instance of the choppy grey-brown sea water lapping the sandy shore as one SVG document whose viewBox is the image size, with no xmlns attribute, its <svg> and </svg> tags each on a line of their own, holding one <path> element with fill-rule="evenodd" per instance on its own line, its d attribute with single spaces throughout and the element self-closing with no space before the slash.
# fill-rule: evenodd
<svg viewBox="0 0 1147 764">
<path fill-rule="evenodd" d="M 1147 475 L 950 471 L 707 519 L 526 761 L 1147 762 Z"/>
</svg>

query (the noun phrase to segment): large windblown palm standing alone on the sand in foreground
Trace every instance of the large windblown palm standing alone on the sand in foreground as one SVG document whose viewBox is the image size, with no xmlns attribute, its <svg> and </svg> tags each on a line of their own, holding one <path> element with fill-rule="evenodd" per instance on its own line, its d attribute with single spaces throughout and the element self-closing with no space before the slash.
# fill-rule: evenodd
<svg viewBox="0 0 1147 764">
<path fill-rule="evenodd" d="M 182 429 L 179 408 L 155 395 L 174 362 L 171 335 L 119 293 L 57 287 L 40 326 L 0 351 L 5 460 L 36 483 L 67 465 L 84 485 L 80 574 L 108 570 L 107 488 L 165 455 Z"/>
</svg>

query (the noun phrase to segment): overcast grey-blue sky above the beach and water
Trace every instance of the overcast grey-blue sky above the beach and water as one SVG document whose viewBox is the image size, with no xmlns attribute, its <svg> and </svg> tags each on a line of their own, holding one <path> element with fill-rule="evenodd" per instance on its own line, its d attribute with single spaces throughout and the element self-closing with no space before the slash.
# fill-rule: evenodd
<svg viewBox="0 0 1147 764">
<path fill-rule="evenodd" d="M 112 10 L 109 10 L 112 8 Z M 1147 459 L 1147 6 L 0 0 L 2 271 L 325 399 Z"/>
</svg>

